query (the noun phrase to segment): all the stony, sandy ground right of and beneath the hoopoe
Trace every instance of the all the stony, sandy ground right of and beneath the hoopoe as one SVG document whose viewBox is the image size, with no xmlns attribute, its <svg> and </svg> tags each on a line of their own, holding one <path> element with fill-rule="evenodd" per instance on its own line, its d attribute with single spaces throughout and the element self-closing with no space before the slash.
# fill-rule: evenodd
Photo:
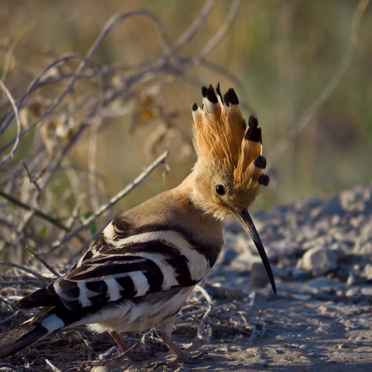
<svg viewBox="0 0 372 372">
<path fill-rule="evenodd" d="M 223 254 L 190 297 L 173 333 L 186 352 L 207 351 L 213 362 L 175 369 L 372 371 L 372 186 L 301 200 L 255 214 L 253 221 L 278 295 L 246 232 L 238 224 L 227 226 Z M 103 353 L 113 345 L 109 339 L 97 343 L 96 336 L 75 332 L 83 332 L 86 339 L 81 350 L 90 350 L 84 354 L 85 364 L 79 360 L 79 366 L 71 366 L 71 356 L 67 368 L 67 362 L 53 360 L 50 351 L 45 357 L 42 347 L 35 346 L 44 363 L 40 370 L 148 371 L 171 356 L 152 332 L 142 338 L 143 347 L 154 350 L 158 360 L 105 360 L 116 352 L 114 347 Z M 132 341 L 136 337 L 139 341 L 142 335 L 129 335 Z M 31 352 L 23 355 L 28 362 L 35 349 Z M 4 361 L 7 366 L 1 362 L 0 371 L 12 371 L 12 366 L 13 371 L 27 370 L 20 356 Z M 32 361 L 31 366 L 35 367 Z"/>
</svg>

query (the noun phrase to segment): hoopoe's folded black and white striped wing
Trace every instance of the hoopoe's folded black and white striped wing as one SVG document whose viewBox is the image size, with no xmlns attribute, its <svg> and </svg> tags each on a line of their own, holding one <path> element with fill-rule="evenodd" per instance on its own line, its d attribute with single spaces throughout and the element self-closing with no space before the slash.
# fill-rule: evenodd
<svg viewBox="0 0 372 372">
<path fill-rule="evenodd" d="M 112 221 L 69 273 L 18 307 L 62 303 L 78 310 L 195 285 L 209 272 L 208 257 L 179 231 L 161 229 L 128 235 Z"/>
</svg>

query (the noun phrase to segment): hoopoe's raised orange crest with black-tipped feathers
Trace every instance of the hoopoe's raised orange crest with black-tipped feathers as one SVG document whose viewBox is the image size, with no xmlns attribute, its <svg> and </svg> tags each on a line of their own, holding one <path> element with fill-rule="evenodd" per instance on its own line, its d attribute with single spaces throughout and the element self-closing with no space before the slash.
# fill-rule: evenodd
<svg viewBox="0 0 372 372">
<path fill-rule="evenodd" d="M 239 100 L 230 88 L 222 97 L 217 84 L 202 88 L 203 105 L 192 105 L 194 147 L 198 163 L 214 163 L 228 174 L 235 190 L 240 190 L 246 207 L 269 184 L 263 174 L 266 159 L 262 156 L 261 128 L 250 116 L 243 119 Z"/>
</svg>

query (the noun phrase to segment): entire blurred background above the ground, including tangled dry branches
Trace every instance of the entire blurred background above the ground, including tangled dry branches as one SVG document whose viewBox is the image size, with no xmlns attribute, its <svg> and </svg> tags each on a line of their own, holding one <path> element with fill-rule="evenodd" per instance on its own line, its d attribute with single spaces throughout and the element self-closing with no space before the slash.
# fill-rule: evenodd
<svg viewBox="0 0 372 372">
<path fill-rule="evenodd" d="M 189 174 L 191 104 L 218 81 L 262 127 L 271 182 L 252 209 L 369 183 L 371 20 L 365 0 L 2 0 L 0 74 L 22 132 L 0 188 L 74 226 L 169 150 L 164 180 L 161 164 L 90 225 L 92 238 Z M 13 116 L 1 92 L 0 161 L 15 143 Z M 50 251 L 57 227 L 9 198 L 0 203 L 3 259 L 27 242 Z"/>
</svg>

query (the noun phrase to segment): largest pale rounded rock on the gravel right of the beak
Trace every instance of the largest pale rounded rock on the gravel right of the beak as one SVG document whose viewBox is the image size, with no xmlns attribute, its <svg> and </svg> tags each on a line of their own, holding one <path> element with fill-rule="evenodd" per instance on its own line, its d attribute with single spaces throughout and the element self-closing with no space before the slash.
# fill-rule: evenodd
<svg viewBox="0 0 372 372">
<path fill-rule="evenodd" d="M 310 248 L 299 260 L 298 268 L 308 270 L 314 276 L 325 274 L 337 268 L 337 255 L 323 247 Z"/>
</svg>

